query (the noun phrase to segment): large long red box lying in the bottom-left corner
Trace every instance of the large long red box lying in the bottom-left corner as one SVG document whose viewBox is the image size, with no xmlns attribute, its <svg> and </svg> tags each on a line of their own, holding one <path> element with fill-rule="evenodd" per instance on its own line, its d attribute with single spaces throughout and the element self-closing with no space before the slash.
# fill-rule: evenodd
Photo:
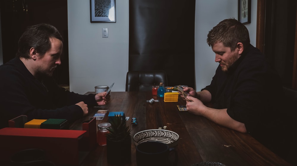
<svg viewBox="0 0 297 166">
<path fill-rule="evenodd" d="M 42 149 L 46 160 L 56 165 L 79 165 L 86 153 L 79 153 L 79 139 L 86 131 L 37 128 L 0 129 L 0 161 L 24 149 Z"/>
</svg>

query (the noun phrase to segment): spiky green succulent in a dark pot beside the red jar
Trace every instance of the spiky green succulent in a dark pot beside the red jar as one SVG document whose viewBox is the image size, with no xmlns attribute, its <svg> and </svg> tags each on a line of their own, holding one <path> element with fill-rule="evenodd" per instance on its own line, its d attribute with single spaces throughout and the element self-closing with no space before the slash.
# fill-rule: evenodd
<svg viewBox="0 0 297 166">
<path fill-rule="evenodd" d="M 109 120 L 111 128 L 106 134 L 107 162 L 112 165 L 125 165 L 131 162 L 131 136 L 126 119 L 115 115 Z"/>
</svg>

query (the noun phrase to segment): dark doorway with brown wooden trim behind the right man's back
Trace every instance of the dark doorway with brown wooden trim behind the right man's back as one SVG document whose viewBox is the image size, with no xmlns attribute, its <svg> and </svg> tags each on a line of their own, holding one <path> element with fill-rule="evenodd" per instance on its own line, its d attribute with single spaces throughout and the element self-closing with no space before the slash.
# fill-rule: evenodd
<svg viewBox="0 0 297 166">
<path fill-rule="evenodd" d="M 257 48 L 274 65 L 282 84 L 297 89 L 296 0 L 258 0 Z"/>
</svg>

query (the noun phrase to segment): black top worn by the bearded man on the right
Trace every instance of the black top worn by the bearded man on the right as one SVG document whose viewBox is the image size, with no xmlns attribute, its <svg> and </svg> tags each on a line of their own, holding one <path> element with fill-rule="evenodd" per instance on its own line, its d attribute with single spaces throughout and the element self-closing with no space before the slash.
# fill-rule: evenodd
<svg viewBox="0 0 297 166">
<path fill-rule="evenodd" d="M 226 73 L 218 66 L 204 89 L 211 93 L 214 108 L 227 108 L 255 139 L 278 154 L 284 151 L 291 131 L 282 108 L 281 79 L 257 48 L 249 45 Z"/>
</svg>

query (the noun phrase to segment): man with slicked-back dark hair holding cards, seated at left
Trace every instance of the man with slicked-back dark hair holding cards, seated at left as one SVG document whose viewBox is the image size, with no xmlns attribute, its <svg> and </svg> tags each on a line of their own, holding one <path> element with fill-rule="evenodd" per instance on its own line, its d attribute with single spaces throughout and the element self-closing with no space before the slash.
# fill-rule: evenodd
<svg viewBox="0 0 297 166">
<path fill-rule="evenodd" d="M 61 64 L 63 38 L 56 27 L 28 27 L 18 42 L 16 57 L 0 66 L 0 128 L 19 115 L 31 119 L 75 121 L 88 106 L 106 105 L 110 95 L 80 95 L 59 87 L 51 77 Z"/>
</svg>

